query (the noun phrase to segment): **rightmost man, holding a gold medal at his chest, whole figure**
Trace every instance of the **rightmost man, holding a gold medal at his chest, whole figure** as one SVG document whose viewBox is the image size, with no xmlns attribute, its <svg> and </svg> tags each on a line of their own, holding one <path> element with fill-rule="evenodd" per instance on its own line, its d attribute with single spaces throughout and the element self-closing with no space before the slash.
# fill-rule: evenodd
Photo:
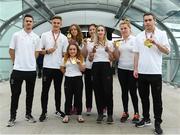
<svg viewBox="0 0 180 135">
<path fill-rule="evenodd" d="M 155 133 L 162 134 L 162 54 L 169 54 L 170 46 L 166 32 L 155 27 L 155 16 L 145 13 L 145 30 L 137 35 L 134 48 L 134 77 L 138 78 L 138 89 L 142 102 L 143 119 L 136 127 L 151 124 L 149 93 L 153 98 Z"/>
</svg>

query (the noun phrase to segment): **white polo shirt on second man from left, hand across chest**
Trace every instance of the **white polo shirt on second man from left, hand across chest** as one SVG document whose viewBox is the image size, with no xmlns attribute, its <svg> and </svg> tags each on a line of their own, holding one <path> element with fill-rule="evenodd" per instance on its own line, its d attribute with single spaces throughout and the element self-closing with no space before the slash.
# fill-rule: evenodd
<svg viewBox="0 0 180 135">
<path fill-rule="evenodd" d="M 57 37 L 57 35 L 55 35 Z M 43 67 L 59 69 L 62 62 L 62 55 L 66 52 L 68 46 L 68 39 L 65 35 L 60 33 L 57 39 L 57 49 L 51 53 L 44 55 Z M 53 38 L 52 31 L 48 31 L 42 34 L 41 36 L 41 48 L 45 48 L 45 50 L 53 48 L 55 41 Z"/>
</svg>

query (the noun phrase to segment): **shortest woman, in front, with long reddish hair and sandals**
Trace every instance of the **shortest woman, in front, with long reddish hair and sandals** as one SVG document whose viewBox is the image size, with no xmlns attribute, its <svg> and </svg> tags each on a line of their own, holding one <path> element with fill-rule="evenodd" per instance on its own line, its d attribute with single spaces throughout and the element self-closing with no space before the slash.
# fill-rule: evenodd
<svg viewBox="0 0 180 135">
<path fill-rule="evenodd" d="M 64 91 L 65 91 L 65 117 L 64 123 L 69 122 L 69 115 L 72 107 L 72 98 L 77 109 L 77 121 L 84 122 L 82 113 L 82 71 L 85 70 L 85 63 L 78 44 L 74 40 L 69 41 L 67 52 L 65 53 L 61 71 L 65 74 Z"/>
</svg>

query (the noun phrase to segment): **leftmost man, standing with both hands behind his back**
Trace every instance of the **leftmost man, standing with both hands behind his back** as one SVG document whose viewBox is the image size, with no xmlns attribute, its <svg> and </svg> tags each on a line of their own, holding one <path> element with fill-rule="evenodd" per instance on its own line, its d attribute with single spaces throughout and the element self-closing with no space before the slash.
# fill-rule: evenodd
<svg viewBox="0 0 180 135">
<path fill-rule="evenodd" d="M 29 122 L 36 122 L 31 115 L 31 109 L 36 81 L 36 57 L 38 51 L 41 49 L 39 46 L 40 39 L 39 36 L 32 31 L 33 17 L 31 15 L 24 16 L 23 27 L 24 29 L 16 32 L 12 36 L 9 46 L 9 54 L 13 62 L 13 71 L 10 77 L 12 95 L 8 127 L 14 126 L 15 124 L 16 111 L 18 109 L 18 101 L 23 81 L 26 82 L 25 118 Z"/>
</svg>

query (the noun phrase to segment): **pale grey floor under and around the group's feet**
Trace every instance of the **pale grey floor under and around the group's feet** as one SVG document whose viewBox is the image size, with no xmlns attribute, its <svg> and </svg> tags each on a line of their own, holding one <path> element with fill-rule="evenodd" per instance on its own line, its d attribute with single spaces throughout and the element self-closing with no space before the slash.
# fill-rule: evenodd
<svg viewBox="0 0 180 135">
<path fill-rule="evenodd" d="M 83 116 L 85 123 L 78 123 L 76 116 L 72 116 L 68 124 L 62 123 L 61 118 L 54 115 L 54 89 L 51 86 L 49 92 L 48 119 L 45 122 L 28 123 L 25 121 L 25 85 L 19 100 L 16 124 L 14 127 L 6 127 L 9 120 L 10 87 L 9 82 L 0 83 L 0 134 L 153 134 L 154 120 L 151 103 L 152 125 L 144 128 L 136 128 L 131 123 L 133 108 L 131 99 L 129 101 L 130 118 L 126 123 L 119 121 L 122 113 L 121 90 L 117 77 L 114 76 L 114 121 L 112 125 L 106 124 L 106 118 L 102 124 L 96 123 L 96 106 L 93 105 L 92 114 L 86 116 L 85 98 L 83 92 Z M 38 120 L 41 114 L 40 105 L 41 79 L 37 79 L 32 115 Z M 180 89 L 163 84 L 163 123 L 164 134 L 180 134 Z M 141 102 L 139 102 L 141 111 Z M 62 110 L 64 110 L 64 90 L 62 88 Z"/>
</svg>

